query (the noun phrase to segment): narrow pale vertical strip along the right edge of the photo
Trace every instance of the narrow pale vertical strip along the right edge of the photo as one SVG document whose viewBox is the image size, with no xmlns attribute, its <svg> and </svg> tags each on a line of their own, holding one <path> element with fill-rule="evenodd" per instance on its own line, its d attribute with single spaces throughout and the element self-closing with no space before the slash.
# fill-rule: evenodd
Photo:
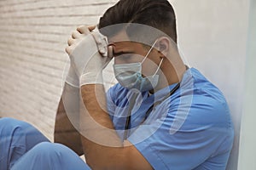
<svg viewBox="0 0 256 170">
<path fill-rule="evenodd" d="M 241 120 L 241 143 L 238 168 L 256 169 L 256 135 L 255 135 L 255 103 L 256 103 L 256 1 L 251 0 L 250 21 L 247 41 L 247 65 L 245 81 L 244 108 Z"/>
</svg>

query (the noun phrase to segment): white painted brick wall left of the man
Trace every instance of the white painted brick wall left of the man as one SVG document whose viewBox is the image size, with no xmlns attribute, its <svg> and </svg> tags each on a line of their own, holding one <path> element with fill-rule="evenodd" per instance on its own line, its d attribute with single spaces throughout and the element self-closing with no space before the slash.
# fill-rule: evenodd
<svg viewBox="0 0 256 170">
<path fill-rule="evenodd" d="M 67 39 L 96 24 L 114 0 L 0 1 L 0 116 L 31 122 L 53 139 Z"/>
</svg>

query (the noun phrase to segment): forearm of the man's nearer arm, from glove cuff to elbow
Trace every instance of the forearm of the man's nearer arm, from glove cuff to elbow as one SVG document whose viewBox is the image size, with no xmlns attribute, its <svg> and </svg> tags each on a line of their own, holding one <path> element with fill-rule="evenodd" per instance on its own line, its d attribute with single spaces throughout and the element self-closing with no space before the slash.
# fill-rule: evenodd
<svg viewBox="0 0 256 170">
<path fill-rule="evenodd" d="M 96 169 L 108 169 L 108 166 L 111 169 L 111 164 L 118 166 L 119 162 L 114 161 L 122 159 L 125 147 L 106 112 L 103 86 L 85 85 L 81 88 L 81 96 L 84 105 L 80 110 L 80 131 L 87 163 Z M 115 156 L 119 156 L 119 159 L 115 159 Z"/>
</svg>

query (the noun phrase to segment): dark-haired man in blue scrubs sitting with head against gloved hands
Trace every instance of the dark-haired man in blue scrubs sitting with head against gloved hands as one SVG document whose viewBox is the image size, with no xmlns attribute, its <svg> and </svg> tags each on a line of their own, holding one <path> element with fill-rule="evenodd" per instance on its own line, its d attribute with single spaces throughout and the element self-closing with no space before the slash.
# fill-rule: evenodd
<svg viewBox="0 0 256 170">
<path fill-rule="evenodd" d="M 218 88 L 183 64 L 171 4 L 120 0 L 98 28 L 107 38 L 80 26 L 68 40 L 71 66 L 55 142 L 84 154 L 92 169 L 225 169 L 234 138 L 230 111 Z M 102 69 L 111 59 L 119 83 L 105 94 Z M 34 169 L 36 161 L 89 168 L 63 145 L 45 142 L 16 160 L 13 169 L 28 160 Z"/>
</svg>

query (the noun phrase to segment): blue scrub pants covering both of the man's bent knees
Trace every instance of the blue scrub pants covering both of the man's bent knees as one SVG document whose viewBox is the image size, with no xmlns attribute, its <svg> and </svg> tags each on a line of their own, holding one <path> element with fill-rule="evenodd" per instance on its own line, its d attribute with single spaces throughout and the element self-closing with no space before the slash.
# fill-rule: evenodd
<svg viewBox="0 0 256 170">
<path fill-rule="evenodd" d="M 0 170 L 87 170 L 80 157 L 52 144 L 35 127 L 12 118 L 0 119 Z"/>
</svg>

